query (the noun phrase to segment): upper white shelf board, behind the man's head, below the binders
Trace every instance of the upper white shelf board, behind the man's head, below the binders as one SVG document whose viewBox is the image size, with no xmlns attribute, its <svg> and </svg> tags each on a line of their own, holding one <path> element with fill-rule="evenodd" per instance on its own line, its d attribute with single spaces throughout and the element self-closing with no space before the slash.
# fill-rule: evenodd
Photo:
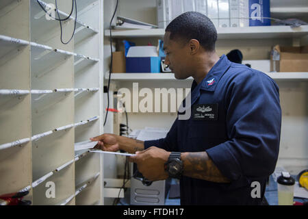
<svg viewBox="0 0 308 219">
<path fill-rule="evenodd" d="M 259 38 L 301 38 L 308 35 L 308 25 L 290 26 L 259 26 L 259 27 L 218 27 L 218 40 L 221 39 L 259 39 Z M 164 37 L 164 29 L 127 29 L 112 30 L 113 38 Z M 105 29 L 105 36 L 110 30 Z"/>
</svg>

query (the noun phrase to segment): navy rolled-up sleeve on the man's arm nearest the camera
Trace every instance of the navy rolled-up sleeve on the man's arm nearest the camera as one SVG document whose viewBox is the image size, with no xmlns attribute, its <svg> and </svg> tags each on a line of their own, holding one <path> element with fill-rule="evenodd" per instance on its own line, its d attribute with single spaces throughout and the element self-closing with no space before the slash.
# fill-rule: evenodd
<svg viewBox="0 0 308 219">
<path fill-rule="evenodd" d="M 229 140 L 207 149 L 207 154 L 233 182 L 268 177 L 279 154 L 279 88 L 264 73 L 251 70 L 236 76 L 228 89 L 225 110 Z"/>
</svg>

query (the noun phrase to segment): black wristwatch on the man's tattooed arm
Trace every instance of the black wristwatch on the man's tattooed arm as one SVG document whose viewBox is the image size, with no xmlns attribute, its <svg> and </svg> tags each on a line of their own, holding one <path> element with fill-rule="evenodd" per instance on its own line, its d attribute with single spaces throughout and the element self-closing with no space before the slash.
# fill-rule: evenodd
<svg viewBox="0 0 308 219">
<path fill-rule="evenodd" d="M 183 172 L 183 162 L 181 152 L 171 152 L 168 161 L 165 163 L 165 170 L 171 178 L 181 178 Z"/>
</svg>

